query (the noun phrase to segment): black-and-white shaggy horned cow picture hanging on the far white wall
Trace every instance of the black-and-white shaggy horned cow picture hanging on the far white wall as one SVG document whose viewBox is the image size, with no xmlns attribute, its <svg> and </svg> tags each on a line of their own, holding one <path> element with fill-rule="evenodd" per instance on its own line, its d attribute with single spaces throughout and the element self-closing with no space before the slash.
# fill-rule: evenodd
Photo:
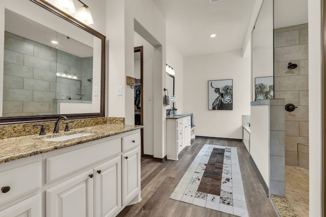
<svg viewBox="0 0 326 217">
<path fill-rule="evenodd" d="M 214 95 L 209 97 L 209 108 L 211 110 L 233 110 L 233 88 L 232 80 L 210 81 L 210 89 Z M 211 91 L 210 90 L 210 91 Z M 212 92 L 212 91 L 211 91 Z"/>
</svg>

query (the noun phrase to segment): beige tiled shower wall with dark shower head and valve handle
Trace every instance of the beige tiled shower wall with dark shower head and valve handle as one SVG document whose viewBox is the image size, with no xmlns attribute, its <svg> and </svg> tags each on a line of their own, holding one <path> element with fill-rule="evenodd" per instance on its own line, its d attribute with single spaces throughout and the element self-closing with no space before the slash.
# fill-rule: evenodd
<svg viewBox="0 0 326 217">
<path fill-rule="evenodd" d="M 285 164 L 309 169 L 308 24 L 274 29 L 274 51 L 275 98 L 297 106 L 285 111 Z"/>
</svg>

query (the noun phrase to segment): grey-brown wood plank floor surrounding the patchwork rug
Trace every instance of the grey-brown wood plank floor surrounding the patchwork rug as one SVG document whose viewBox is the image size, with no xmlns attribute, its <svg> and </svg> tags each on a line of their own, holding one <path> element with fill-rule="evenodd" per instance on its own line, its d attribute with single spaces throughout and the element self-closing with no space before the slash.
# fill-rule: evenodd
<svg viewBox="0 0 326 217">
<path fill-rule="evenodd" d="M 183 174 L 204 144 L 237 147 L 249 216 L 278 216 L 263 190 L 254 167 L 249 160 L 249 153 L 246 147 L 244 147 L 244 144 L 237 141 L 202 138 L 192 139 L 192 145 L 186 146 L 179 154 L 179 161 L 168 160 L 165 163 L 156 163 L 150 159 L 142 159 L 142 201 L 139 204 L 125 207 L 118 216 L 234 216 L 170 199 L 172 192 Z"/>
</svg>

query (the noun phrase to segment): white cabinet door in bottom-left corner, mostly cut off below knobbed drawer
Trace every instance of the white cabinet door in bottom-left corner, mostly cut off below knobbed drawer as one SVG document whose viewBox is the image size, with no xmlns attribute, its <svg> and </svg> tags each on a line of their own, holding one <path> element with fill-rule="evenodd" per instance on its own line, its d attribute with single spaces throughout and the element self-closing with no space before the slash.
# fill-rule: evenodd
<svg viewBox="0 0 326 217">
<path fill-rule="evenodd" d="M 0 211 L 0 216 L 1 217 L 41 217 L 42 216 L 41 200 L 42 200 L 41 194 L 37 194 L 3 211 Z"/>
</svg>

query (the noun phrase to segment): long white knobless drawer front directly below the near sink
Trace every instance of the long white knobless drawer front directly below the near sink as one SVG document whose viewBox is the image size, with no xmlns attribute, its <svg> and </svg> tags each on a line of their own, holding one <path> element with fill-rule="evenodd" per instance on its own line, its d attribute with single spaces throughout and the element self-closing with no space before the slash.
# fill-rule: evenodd
<svg viewBox="0 0 326 217">
<path fill-rule="evenodd" d="M 46 159 L 46 182 L 62 178 L 120 153 L 120 138 L 102 141 L 93 146 L 70 151 Z"/>
</svg>

